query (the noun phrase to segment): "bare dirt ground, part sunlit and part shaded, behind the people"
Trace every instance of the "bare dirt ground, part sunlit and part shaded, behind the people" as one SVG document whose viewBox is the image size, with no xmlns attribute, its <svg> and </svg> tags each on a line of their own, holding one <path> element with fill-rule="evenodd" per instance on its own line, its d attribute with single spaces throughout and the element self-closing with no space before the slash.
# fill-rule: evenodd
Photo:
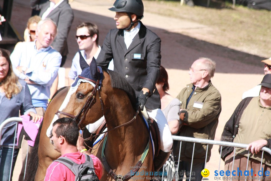
<svg viewBox="0 0 271 181">
<path fill-rule="evenodd" d="M 66 85 L 67 73 L 78 48 L 75 41 L 75 27 L 84 21 L 97 24 L 100 31 L 99 44 L 102 45 L 106 33 L 115 28 L 114 13 L 107 10 L 113 3 L 113 0 L 74 0 L 70 2 L 74 12 L 74 21 L 68 37 L 69 54 L 64 65 L 66 68 Z M 22 37 L 26 21 L 31 14 L 28 5 L 29 0 L 14 0 L 13 3 L 11 22 Z M 150 4 L 148 3 L 148 5 Z M 220 140 L 223 127 L 241 101 L 243 92 L 261 82 L 264 64 L 259 62 L 264 57 L 204 41 L 203 37 L 208 37 L 208 34 L 201 34 L 200 30 L 212 30 L 212 27 L 194 21 L 176 19 L 146 11 L 142 22 L 162 40 L 161 63 L 168 71 L 170 84 L 168 92 L 173 97 L 177 96 L 180 90 L 190 83 L 188 69 L 193 61 L 199 57 L 208 57 L 216 62 L 216 73 L 212 83 L 222 95 L 222 112 L 215 136 L 215 140 Z M 195 30 L 197 30 L 196 33 Z M 183 31 L 185 33 L 182 33 Z M 215 39 L 216 37 L 212 35 L 209 38 Z M 210 170 L 210 179 L 213 178 L 214 170 L 219 168 L 219 160 L 218 148 L 214 146 L 211 159 L 206 166 Z M 223 168 L 222 166 L 223 161 L 220 170 Z M 20 167 L 19 154 L 13 180 L 17 180 Z"/>
</svg>

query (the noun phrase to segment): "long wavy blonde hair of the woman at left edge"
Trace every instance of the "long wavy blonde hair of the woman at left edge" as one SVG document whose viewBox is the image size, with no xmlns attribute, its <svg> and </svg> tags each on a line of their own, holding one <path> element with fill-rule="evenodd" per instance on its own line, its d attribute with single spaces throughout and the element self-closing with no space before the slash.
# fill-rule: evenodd
<svg viewBox="0 0 271 181">
<path fill-rule="evenodd" d="M 18 87 L 18 78 L 14 74 L 12 70 L 11 61 L 9 58 L 10 52 L 8 50 L 0 48 L 0 56 L 5 57 L 5 59 L 8 61 L 8 74 L 6 75 L 5 79 L 2 81 L 3 89 L 5 92 L 5 96 L 8 99 L 11 99 L 12 95 L 18 94 L 21 91 L 21 87 Z"/>
</svg>

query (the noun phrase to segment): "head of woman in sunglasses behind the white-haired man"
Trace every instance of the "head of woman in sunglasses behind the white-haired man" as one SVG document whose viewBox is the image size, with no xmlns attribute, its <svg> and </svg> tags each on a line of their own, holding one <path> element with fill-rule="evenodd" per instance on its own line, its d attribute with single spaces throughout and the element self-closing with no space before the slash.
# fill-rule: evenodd
<svg viewBox="0 0 271 181">
<path fill-rule="evenodd" d="M 23 39 L 26 42 L 34 41 L 36 39 L 36 29 L 41 17 L 35 15 L 28 19 L 26 29 L 24 30 Z"/>
</svg>

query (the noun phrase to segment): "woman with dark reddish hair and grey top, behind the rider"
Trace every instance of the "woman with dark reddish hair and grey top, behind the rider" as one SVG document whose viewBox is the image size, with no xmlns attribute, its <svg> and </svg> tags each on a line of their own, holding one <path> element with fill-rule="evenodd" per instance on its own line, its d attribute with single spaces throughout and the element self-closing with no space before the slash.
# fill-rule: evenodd
<svg viewBox="0 0 271 181">
<path fill-rule="evenodd" d="M 168 75 L 166 69 L 160 66 L 160 76 L 156 83 L 156 88 L 160 94 L 161 110 L 167 118 L 171 134 L 175 134 L 179 130 L 179 111 L 180 101 L 174 99 L 166 91 L 169 89 Z"/>
</svg>

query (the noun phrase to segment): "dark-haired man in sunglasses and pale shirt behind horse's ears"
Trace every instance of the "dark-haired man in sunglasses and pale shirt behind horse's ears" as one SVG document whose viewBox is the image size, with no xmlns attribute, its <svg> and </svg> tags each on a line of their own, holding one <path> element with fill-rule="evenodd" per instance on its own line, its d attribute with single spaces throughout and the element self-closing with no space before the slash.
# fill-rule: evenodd
<svg viewBox="0 0 271 181">
<path fill-rule="evenodd" d="M 76 41 L 78 48 L 81 51 L 84 59 L 88 64 L 94 57 L 97 59 L 101 46 L 98 46 L 99 41 L 99 30 L 96 24 L 84 22 L 76 27 Z M 110 62 L 108 69 L 113 70 L 113 61 Z M 73 57 L 72 66 L 69 72 L 69 84 L 71 85 L 74 79 L 80 75 L 82 69 L 79 63 L 79 53 L 77 52 Z"/>
</svg>

